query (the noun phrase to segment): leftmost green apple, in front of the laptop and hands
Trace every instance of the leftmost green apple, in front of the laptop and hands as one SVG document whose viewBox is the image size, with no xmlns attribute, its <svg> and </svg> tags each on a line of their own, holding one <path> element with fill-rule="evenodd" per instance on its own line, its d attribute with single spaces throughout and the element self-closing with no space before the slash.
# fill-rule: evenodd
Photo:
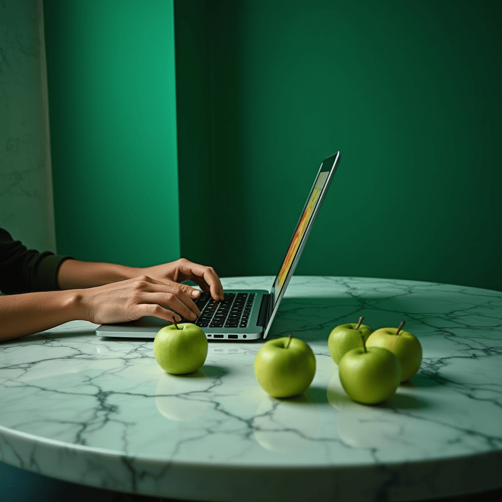
<svg viewBox="0 0 502 502">
<path fill-rule="evenodd" d="M 155 335 L 154 355 L 159 366 L 168 373 L 193 373 L 206 360 L 206 335 L 189 322 L 164 326 Z"/>
</svg>

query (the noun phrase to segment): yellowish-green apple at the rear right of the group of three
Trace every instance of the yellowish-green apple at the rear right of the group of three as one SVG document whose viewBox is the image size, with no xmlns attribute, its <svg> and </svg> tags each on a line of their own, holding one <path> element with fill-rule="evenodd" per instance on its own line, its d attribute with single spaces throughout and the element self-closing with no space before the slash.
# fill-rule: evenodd
<svg viewBox="0 0 502 502">
<path fill-rule="evenodd" d="M 380 328 L 373 331 L 366 342 L 366 347 L 382 347 L 390 350 L 401 363 L 401 382 L 410 380 L 422 364 L 422 345 L 417 337 L 403 331 L 405 321 L 398 328 Z"/>
</svg>

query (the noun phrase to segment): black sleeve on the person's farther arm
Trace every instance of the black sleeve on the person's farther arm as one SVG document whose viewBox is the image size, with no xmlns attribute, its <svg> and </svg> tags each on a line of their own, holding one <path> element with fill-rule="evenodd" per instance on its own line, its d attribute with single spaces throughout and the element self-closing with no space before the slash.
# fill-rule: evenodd
<svg viewBox="0 0 502 502">
<path fill-rule="evenodd" d="M 27 249 L 0 228 L 0 291 L 5 294 L 59 290 L 57 276 L 69 256 Z"/>
</svg>

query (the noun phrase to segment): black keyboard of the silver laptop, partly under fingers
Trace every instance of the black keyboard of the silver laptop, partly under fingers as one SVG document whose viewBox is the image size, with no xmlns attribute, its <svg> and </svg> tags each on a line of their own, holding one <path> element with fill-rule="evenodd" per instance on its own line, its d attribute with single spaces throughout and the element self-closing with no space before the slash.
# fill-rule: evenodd
<svg viewBox="0 0 502 502">
<path fill-rule="evenodd" d="M 201 328 L 245 328 L 256 293 L 225 293 L 215 302 L 209 293 L 201 293 L 195 301 L 200 316 L 195 324 Z"/>
</svg>

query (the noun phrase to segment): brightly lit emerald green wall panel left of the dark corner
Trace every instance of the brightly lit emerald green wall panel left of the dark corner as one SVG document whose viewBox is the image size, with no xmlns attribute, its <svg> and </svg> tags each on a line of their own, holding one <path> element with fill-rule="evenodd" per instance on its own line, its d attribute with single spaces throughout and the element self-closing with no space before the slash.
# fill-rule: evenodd
<svg viewBox="0 0 502 502">
<path fill-rule="evenodd" d="M 57 250 L 179 258 L 172 0 L 44 0 Z"/>
</svg>

